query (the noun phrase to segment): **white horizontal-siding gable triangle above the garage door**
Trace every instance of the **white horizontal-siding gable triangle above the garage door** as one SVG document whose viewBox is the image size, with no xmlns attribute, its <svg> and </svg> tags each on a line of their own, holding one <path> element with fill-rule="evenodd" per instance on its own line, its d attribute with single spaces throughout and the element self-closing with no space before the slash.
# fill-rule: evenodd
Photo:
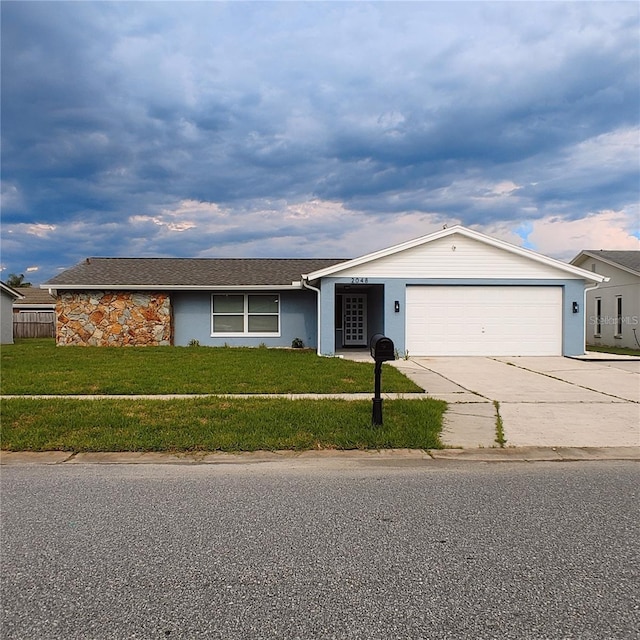
<svg viewBox="0 0 640 640">
<path fill-rule="evenodd" d="M 550 259 L 536 260 L 529 255 L 507 251 L 462 233 L 452 233 L 368 262 L 357 265 L 347 263 L 344 270 L 335 269 L 332 275 L 482 279 L 580 277 L 575 273 L 568 273 L 568 269 L 562 268 L 564 264 L 558 263 L 556 266 L 554 262 Z"/>
</svg>

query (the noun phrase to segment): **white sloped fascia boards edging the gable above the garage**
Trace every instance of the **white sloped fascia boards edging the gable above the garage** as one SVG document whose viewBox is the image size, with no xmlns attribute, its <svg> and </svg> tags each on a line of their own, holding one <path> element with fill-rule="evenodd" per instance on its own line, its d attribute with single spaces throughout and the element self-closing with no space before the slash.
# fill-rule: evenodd
<svg viewBox="0 0 640 640">
<path fill-rule="evenodd" d="M 374 260 L 377 260 L 379 258 L 384 258 L 386 256 L 393 255 L 395 253 L 400 253 L 401 251 L 406 251 L 407 249 L 412 249 L 413 247 L 417 247 L 422 244 L 427 244 L 428 242 L 433 242 L 434 240 L 439 240 L 440 238 L 446 238 L 447 236 L 453 235 L 455 233 L 459 233 L 460 235 L 466 236 L 467 238 L 472 238 L 474 240 L 483 242 L 484 244 L 488 244 L 488 245 L 497 247 L 499 249 L 509 251 L 510 253 L 515 253 L 517 255 L 524 256 L 531 260 L 535 260 L 536 262 L 540 262 L 542 264 L 555 267 L 556 269 L 560 269 L 562 271 L 570 273 L 573 276 L 576 276 L 578 278 L 582 278 L 585 280 L 589 280 L 591 282 L 598 282 L 598 283 L 606 281 L 606 278 L 604 276 L 601 276 L 597 273 L 586 271 L 585 269 L 581 269 L 580 267 L 567 264 L 566 262 L 562 262 L 561 260 L 555 260 L 554 258 L 543 256 L 540 253 L 536 253 L 535 251 L 531 251 L 530 249 L 525 249 L 523 247 L 518 247 L 509 242 L 505 242 L 504 240 L 498 240 L 497 238 L 486 236 L 483 233 L 480 233 L 479 231 L 474 231 L 472 229 L 468 229 L 467 227 L 463 227 L 461 225 L 448 227 L 446 229 L 443 229 L 442 231 L 436 231 L 435 233 L 431 233 L 426 236 L 421 236 L 420 238 L 415 238 L 414 240 L 409 240 L 408 242 L 403 242 L 393 247 L 388 247 L 387 249 L 375 251 L 373 253 L 369 253 L 359 258 L 354 258 L 353 260 L 349 260 L 348 262 L 341 262 L 337 265 L 327 267 L 326 269 L 320 269 L 319 271 L 314 271 L 313 273 L 303 275 L 303 277 L 307 281 L 325 278 L 326 276 L 338 274 L 340 273 L 340 271 L 343 271 L 345 269 L 357 267 L 362 264 L 366 264 L 367 262 L 372 262 Z"/>
</svg>

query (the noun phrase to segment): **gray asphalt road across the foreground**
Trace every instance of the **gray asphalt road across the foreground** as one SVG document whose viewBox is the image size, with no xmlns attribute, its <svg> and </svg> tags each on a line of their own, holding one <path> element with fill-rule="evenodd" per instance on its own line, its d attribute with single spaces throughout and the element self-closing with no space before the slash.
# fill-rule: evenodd
<svg viewBox="0 0 640 640">
<path fill-rule="evenodd" d="M 637 638 L 633 462 L 2 470 L 5 640 Z"/>
</svg>

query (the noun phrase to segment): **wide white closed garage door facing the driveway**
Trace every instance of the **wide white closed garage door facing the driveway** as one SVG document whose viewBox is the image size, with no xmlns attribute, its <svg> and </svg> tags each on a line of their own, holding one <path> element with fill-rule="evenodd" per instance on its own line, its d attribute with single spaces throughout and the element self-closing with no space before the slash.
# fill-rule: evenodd
<svg viewBox="0 0 640 640">
<path fill-rule="evenodd" d="M 407 287 L 409 355 L 562 355 L 562 287 Z"/>
</svg>

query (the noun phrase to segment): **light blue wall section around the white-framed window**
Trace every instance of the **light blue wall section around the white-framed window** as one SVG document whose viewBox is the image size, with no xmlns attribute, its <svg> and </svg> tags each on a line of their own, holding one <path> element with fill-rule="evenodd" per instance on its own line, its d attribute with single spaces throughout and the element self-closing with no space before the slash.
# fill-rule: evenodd
<svg viewBox="0 0 640 640">
<path fill-rule="evenodd" d="M 224 292 L 216 292 L 224 293 Z M 237 292 L 229 292 L 237 293 Z M 246 292 L 252 293 L 252 292 Z M 255 293 L 264 293 L 256 291 Z M 197 340 L 203 346 L 290 347 L 300 338 L 306 347 L 316 348 L 316 294 L 312 291 L 282 291 L 280 296 L 280 335 L 277 337 L 212 337 L 211 291 L 172 293 L 174 344 L 186 346 Z"/>
</svg>

